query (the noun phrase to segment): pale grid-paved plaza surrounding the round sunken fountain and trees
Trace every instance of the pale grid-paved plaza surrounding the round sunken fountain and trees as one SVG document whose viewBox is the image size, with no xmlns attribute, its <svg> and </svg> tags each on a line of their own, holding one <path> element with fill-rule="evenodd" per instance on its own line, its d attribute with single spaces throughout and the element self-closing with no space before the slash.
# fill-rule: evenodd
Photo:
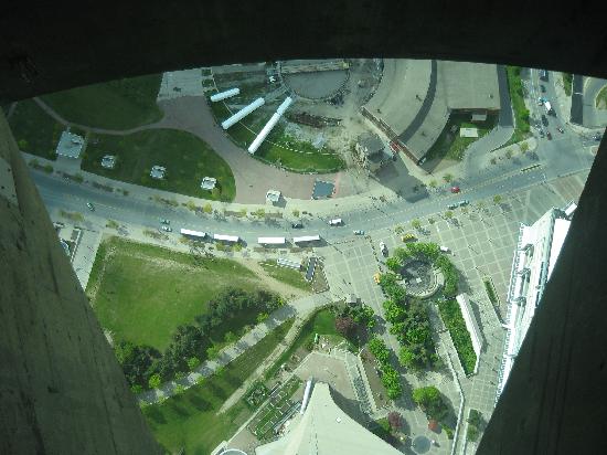
<svg viewBox="0 0 607 455">
<path fill-rule="evenodd" d="M 587 174 L 587 171 L 578 172 L 525 190 L 504 193 L 501 194 L 502 200 L 498 204 L 491 199 L 480 203 L 476 201 L 466 208 L 454 210 L 450 220 L 445 216 L 445 212 L 426 216 L 420 220 L 419 231 L 411 228 L 411 220 L 394 222 L 394 228 L 401 225 L 404 232 L 415 232 L 420 242 L 436 242 L 449 247 L 449 258 L 461 273 L 460 292 L 469 295 L 486 342 L 478 373 L 466 378 L 447 332 L 441 332 L 438 337 L 440 341 L 437 349 L 443 359 L 448 356 L 452 361 L 465 396 L 465 417 L 461 422 L 460 437 L 456 441 L 458 451 L 466 444 L 461 436 L 466 432 L 465 420 L 469 410 L 480 411 L 487 422 L 494 408 L 497 377 L 505 335 L 501 324 L 507 316 L 505 300 L 520 223 L 532 224 L 553 207 L 563 208 L 572 200 L 577 202 Z M 386 271 L 385 257 L 379 252 L 379 243 L 385 242 L 391 254 L 394 248 L 404 246 L 404 243 L 394 229 L 383 229 L 369 234 L 317 248 L 317 252 L 323 257 L 327 279 L 334 298 L 343 298 L 347 294 L 354 293 L 362 303 L 370 305 L 383 316 L 382 303 L 385 298 L 380 286 L 373 281 L 373 274 Z M 487 296 L 482 281 L 484 277 L 489 277 L 494 285 L 500 300 L 499 307 L 494 307 Z M 436 324 L 433 325 L 436 327 Z M 386 338 L 386 341 L 393 349 L 398 348 L 393 340 Z M 405 374 L 405 378 L 413 388 L 436 385 L 451 401 L 454 411 L 458 412 L 458 388 L 448 371 L 432 372 L 423 379 L 413 374 Z M 423 413 L 408 402 L 411 389 L 405 387 L 404 391 L 403 403 L 396 404 L 402 408 L 400 411 L 407 421 L 411 434 L 426 435 L 440 443 L 440 447 L 432 447 L 429 453 L 449 453 L 450 442 L 446 437 L 441 438 L 444 433 L 437 436 L 427 430 L 427 421 Z M 472 451 L 472 446 L 466 449 L 468 453 Z"/>
</svg>

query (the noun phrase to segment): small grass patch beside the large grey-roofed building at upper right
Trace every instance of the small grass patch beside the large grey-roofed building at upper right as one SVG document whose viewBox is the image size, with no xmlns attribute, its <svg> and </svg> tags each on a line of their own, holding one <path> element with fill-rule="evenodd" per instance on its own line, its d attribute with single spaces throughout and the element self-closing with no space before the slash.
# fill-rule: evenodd
<svg viewBox="0 0 607 455">
<path fill-rule="evenodd" d="M 428 154 L 426 155 L 427 159 L 446 158 L 461 161 L 461 159 L 464 159 L 464 152 L 468 146 L 491 131 L 497 121 L 497 116 L 494 115 L 487 116 L 486 121 L 479 123 L 471 123 L 470 118 L 470 114 L 451 114 L 449 121 L 447 121 L 447 125 L 443 129 L 443 133 L 440 133 L 440 136 L 438 136 L 436 142 L 434 142 L 428 150 Z M 450 133 L 454 125 L 458 127 L 455 135 Z M 479 137 L 461 137 L 459 136 L 459 128 L 477 128 Z"/>
</svg>

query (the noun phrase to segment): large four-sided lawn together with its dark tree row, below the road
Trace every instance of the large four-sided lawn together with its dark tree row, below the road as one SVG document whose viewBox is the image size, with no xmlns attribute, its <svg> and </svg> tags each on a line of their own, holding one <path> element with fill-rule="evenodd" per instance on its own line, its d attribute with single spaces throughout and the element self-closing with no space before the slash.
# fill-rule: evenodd
<svg viewBox="0 0 607 455">
<path fill-rule="evenodd" d="M 233 261 L 116 237 L 99 246 L 87 295 L 136 392 L 179 379 L 283 305 Z"/>
</svg>

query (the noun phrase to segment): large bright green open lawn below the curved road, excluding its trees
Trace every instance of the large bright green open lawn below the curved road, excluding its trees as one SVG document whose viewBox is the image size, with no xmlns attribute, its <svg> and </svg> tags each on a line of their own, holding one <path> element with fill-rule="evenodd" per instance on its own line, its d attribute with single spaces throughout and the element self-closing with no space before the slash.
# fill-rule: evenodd
<svg viewBox="0 0 607 455">
<path fill-rule="evenodd" d="M 109 252 L 111 258 L 104 260 Z M 259 284 L 252 271 L 234 261 L 194 262 L 189 254 L 111 237 L 99 246 L 86 292 L 93 296 L 99 322 L 113 331 L 116 341 L 146 343 L 162 351 L 174 328 L 193 322 L 220 289 L 253 290 Z M 254 324 L 255 316 L 232 319 L 216 338 Z"/>
</svg>

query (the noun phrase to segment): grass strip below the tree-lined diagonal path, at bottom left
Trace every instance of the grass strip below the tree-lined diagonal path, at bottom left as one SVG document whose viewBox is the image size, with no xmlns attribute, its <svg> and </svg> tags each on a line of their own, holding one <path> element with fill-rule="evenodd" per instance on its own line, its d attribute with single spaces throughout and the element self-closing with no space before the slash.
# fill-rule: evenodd
<svg viewBox="0 0 607 455">
<path fill-rule="evenodd" d="M 206 455 L 246 422 L 253 411 L 238 401 L 224 414 L 223 402 L 238 389 L 288 332 L 292 319 L 273 330 L 257 345 L 228 363 L 217 377 L 206 379 L 162 404 L 143 409 L 156 438 L 171 453 Z"/>
</svg>

